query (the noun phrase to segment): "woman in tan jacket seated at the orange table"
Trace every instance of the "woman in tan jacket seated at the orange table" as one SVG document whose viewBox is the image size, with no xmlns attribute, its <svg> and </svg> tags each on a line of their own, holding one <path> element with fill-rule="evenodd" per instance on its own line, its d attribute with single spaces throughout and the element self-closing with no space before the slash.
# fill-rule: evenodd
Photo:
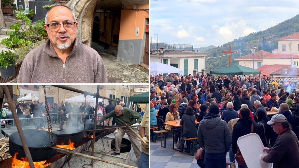
<svg viewBox="0 0 299 168">
<path fill-rule="evenodd" d="M 180 119 L 180 114 L 178 112 L 178 107 L 176 106 L 176 104 L 170 105 L 169 112 L 166 114 L 165 122 L 167 123 L 167 122 L 171 122 L 171 121 L 178 121 L 179 119 Z M 165 129 L 171 131 L 172 126 L 166 124 Z M 173 136 L 174 136 L 174 149 L 177 150 L 177 142 L 178 142 L 178 139 L 180 136 L 179 131 L 175 130 Z"/>
</svg>

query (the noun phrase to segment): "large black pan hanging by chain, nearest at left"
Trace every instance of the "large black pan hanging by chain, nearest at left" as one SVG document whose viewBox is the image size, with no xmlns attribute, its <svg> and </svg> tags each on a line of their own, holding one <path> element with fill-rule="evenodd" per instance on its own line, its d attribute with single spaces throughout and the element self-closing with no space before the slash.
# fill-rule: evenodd
<svg viewBox="0 0 299 168">
<path fill-rule="evenodd" d="M 26 142 L 33 161 L 44 161 L 56 154 L 55 149 L 51 146 L 51 135 L 47 131 L 38 129 L 23 130 Z M 54 146 L 56 146 L 57 137 L 53 135 Z M 14 132 L 9 136 L 9 153 L 11 156 L 17 154 L 17 159 L 22 161 L 25 158 L 24 148 L 19 136 L 19 132 Z"/>
</svg>

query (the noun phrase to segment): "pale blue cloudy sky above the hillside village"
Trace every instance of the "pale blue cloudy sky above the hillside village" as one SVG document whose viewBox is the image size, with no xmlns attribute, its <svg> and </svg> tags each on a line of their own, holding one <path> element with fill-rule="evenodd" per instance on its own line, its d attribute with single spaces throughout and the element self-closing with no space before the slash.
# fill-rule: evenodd
<svg viewBox="0 0 299 168">
<path fill-rule="evenodd" d="M 299 14 L 299 0 L 150 0 L 152 41 L 220 46 Z"/>
</svg>

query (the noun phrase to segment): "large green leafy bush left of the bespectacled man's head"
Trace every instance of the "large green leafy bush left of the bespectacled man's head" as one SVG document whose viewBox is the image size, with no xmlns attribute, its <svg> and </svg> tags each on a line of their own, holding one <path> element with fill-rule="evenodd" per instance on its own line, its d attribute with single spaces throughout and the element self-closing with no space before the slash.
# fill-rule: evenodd
<svg viewBox="0 0 299 168">
<path fill-rule="evenodd" d="M 7 48 L 15 49 L 40 41 L 43 37 L 47 37 L 47 32 L 43 27 L 45 19 L 37 21 L 33 26 L 29 19 L 33 14 L 33 10 L 30 10 L 27 14 L 24 13 L 22 9 L 18 10 L 16 18 L 21 20 L 22 26 L 19 22 L 16 22 L 15 25 L 10 25 L 10 30 L 14 31 L 8 33 L 10 37 L 3 39 L 1 44 L 5 45 Z"/>
</svg>

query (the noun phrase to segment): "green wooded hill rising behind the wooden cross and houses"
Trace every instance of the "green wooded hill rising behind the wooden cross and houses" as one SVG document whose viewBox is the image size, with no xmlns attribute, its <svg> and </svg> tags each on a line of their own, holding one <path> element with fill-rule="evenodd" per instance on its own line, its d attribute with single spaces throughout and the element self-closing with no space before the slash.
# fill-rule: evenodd
<svg viewBox="0 0 299 168">
<path fill-rule="evenodd" d="M 276 39 L 279 39 L 281 37 L 287 36 L 298 31 L 299 15 L 296 15 L 295 17 L 281 22 L 278 25 L 275 25 L 264 31 L 251 33 L 248 36 L 240 37 L 239 39 L 235 39 L 232 42 L 228 42 L 216 48 L 209 49 L 207 51 L 208 58 L 224 55 L 222 51 L 228 50 L 229 44 L 231 44 L 232 50 L 240 50 L 243 56 L 251 53 L 250 48 L 253 46 L 256 46 L 258 48 L 255 51 L 264 50 L 271 53 L 272 50 L 277 48 Z M 232 54 L 232 65 L 238 63 L 238 61 L 234 60 L 237 57 L 240 57 L 239 52 L 236 54 Z M 223 68 L 225 66 L 228 66 L 228 56 L 213 59 L 205 59 L 205 69 L 207 69 L 207 72 L 210 72 L 210 70 L 213 69 Z"/>
</svg>

